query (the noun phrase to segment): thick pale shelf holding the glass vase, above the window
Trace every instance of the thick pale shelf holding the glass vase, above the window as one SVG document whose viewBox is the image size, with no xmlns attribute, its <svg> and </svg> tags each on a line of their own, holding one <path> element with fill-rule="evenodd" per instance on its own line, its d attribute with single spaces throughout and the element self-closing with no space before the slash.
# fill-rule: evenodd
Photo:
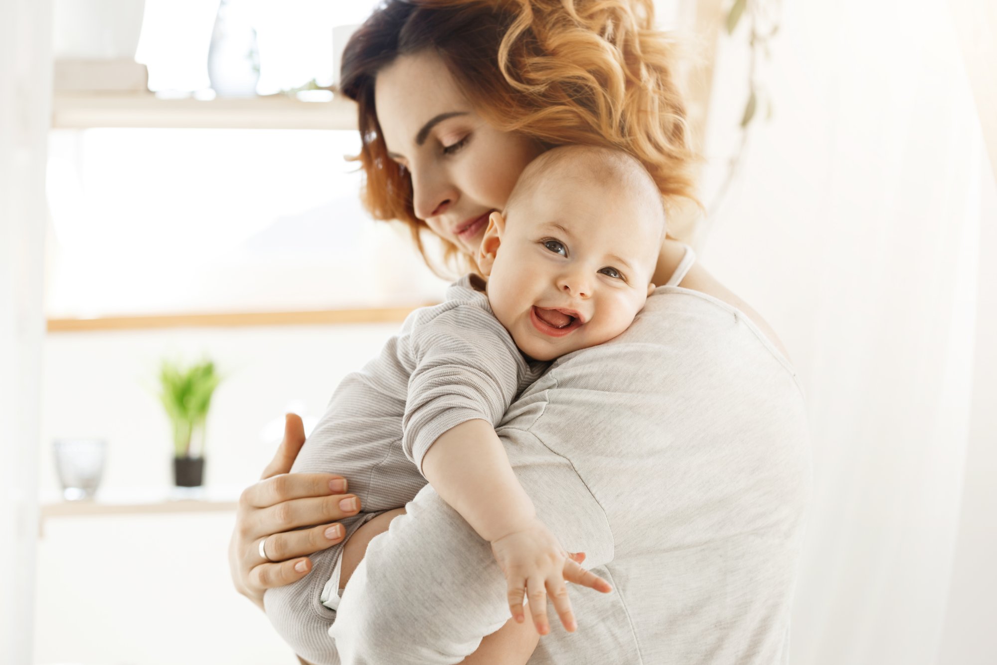
<svg viewBox="0 0 997 665">
<path fill-rule="evenodd" d="M 302 102 L 286 95 L 210 101 L 161 99 L 153 93 L 53 96 L 53 129 L 94 127 L 356 130 L 357 107 L 339 96 L 330 102 Z"/>
</svg>

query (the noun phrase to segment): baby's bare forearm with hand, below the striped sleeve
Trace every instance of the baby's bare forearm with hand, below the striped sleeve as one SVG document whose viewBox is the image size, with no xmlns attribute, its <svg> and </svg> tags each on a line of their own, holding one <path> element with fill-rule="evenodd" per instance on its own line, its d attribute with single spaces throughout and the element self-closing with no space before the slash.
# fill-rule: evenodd
<svg viewBox="0 0 997 665">
<path fill-rule="evenodd" d="M 523 587 L 541 635 L 549 631 L 547 591 L 561 623 L 569 632 L 575 629 L 565 579 L 604 593 L 611 590 L 604 579 L 581 568 L 536 518 L 490 422 L 468 420 L 444 432 L 424 455 L 422 471 L 441 498 L 492 543 L 516 622 L 523 621 Z"/>
</svg>

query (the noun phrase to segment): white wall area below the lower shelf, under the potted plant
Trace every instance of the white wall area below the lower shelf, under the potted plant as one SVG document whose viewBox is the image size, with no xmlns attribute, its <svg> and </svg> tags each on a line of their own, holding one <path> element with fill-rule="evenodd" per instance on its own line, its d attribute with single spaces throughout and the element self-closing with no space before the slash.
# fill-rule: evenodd
<svg viewBox="0 0 997 665">
<path fill-rule="evenodd" d="M 234 517 L 48 520 L 38 543 L 33 662 L 297 665 L 231 585 L 225 553 Z"/>
</svg>

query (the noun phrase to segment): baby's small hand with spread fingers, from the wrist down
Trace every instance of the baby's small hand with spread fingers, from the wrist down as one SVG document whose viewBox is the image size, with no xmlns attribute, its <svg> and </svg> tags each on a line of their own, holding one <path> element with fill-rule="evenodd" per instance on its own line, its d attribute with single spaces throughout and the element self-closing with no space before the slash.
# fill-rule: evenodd
<svg viewBox="0 0 997 665">
<path fill-rule="evenodd" d="M 564 629 L 574 632 L 577 625 L 571 612 L 564 581 L 581 584 L 596 591 L 609 593 L 612 587 L 606 580 L 591 573 L 572 558 L 557 542 L 543 522 L 533 518 L 524 528 L 513 531 L 492 542 L 492 553 L 505 574 L 508 585 L 508 608 L 516 623 L 523 622 L 523 587 L 529 597 L 529 612 L 533 626 L 540 635 L 550 632 L 547 625 L 547 600 L 549 592 L 554 609 L 560 616 Z"/>
</svg>

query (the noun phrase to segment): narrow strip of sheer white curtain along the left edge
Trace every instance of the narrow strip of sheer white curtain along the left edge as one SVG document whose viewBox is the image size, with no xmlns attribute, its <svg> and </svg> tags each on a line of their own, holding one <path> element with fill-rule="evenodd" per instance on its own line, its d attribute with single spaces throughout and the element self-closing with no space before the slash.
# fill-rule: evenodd
<svg viewBox="0 0 997 665">
<path fill-rule="evenodd" d="M 0 663 L 31 657 L 50 0 L 0 2 Z"/>
</svg>

